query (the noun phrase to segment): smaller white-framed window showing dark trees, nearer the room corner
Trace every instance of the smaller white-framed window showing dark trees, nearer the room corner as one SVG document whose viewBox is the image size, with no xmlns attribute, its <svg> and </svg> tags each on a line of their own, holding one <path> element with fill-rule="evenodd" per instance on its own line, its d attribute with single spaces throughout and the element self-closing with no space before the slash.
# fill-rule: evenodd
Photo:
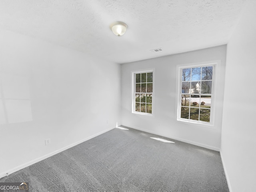
<svg viewBox="0 0 256 192">
<path fill-rule="evenodd" d="M 153 71 L 133 73 L 133 112 L 152 114 Z"/>
</svg>

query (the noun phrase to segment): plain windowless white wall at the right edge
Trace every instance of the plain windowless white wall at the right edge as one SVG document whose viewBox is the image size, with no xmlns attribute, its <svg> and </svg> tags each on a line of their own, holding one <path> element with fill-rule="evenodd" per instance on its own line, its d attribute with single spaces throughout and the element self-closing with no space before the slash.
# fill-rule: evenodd
<svg viewBox="0 0 256 192">
<path fill-rule="evenodd" d="M 256 1 L 228 42 L 221 156 L 230 192 L 256 191 Z"/>
</svg>

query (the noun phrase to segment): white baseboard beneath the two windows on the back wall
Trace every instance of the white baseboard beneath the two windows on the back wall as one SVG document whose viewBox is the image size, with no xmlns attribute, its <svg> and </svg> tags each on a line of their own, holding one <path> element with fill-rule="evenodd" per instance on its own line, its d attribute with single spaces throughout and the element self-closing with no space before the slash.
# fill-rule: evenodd
<svg viewBox="0 0 256 192">
<path fill-rule="evenodd" d="M 123 126 L 125 126 L 125 125 L 123 125 Z M 164 135 L 159 134 L 157 132 L 149 131 L 149 130 L 134 127 L 134 126 L 126 126 L 126 127 L 130 127 L 130 128 L 137 129 L 137 130 L 140 130 L 140 131 L 156 134 L 156 135 L 159 135 L 159 136 L 162 136 L 162 137 L 166 137 L 166 138 L 174 139 L 174 140 L 177 140 L 177 141 L 189 143 L 189 144 L 192 144 L 192 145 L 200 146 L 200 147 L 211 149 L 211 150 L 214 150 L 214 151 L 220 151 L 220 148 L 218 148 L 218 147 L 214 147 L 214 146 L 210 146 L 210 145 L 206 145 L 206 144 L 202 144 L 202 143 L 198 143 L 198 142 L 194 142 L 194 141 L 190 141 L 190 140 L 186 140 L 186 139 L 176 138 L 176 137 L 167 137 L 167 136 L 164 136 Z"/>
</svg>

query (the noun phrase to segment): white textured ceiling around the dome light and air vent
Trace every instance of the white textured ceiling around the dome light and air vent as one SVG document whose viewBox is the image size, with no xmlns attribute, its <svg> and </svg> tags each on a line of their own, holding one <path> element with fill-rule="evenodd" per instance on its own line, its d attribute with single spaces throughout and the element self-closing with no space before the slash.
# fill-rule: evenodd
<svg viewBox="0 0 256 192">
<path fill-rule="evenodd" d="M 0 0 L 0 28 L 125 63 L 226 44 L 246 2 Z M 115 21 L 128 25 L 121 37 Z"/>
</svg>

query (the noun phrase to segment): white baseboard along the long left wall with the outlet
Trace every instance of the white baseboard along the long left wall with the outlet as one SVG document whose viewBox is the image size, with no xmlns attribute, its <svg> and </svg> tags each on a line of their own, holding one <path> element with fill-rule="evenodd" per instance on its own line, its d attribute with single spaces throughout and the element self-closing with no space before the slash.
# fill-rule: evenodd
<svg viewBox="0 0 256 192">
<path fill-rule="evenodd" d="M 82 143 L 82 142 L 85 142 L 85 141 L 87 141 L 87 140 L 89 140 L 89 139 L 92 139 L 92 138 L 94 138 L 94 137 L 96 137 L 96 136 L 98 136 L 98 135 L 101 135 L 101 134 L 103 134 L 103 133 L 105 133 L 105 132 L 108 132 L 108 131 L 110 131 L 110 130 L 112 130 L 112 129 L 114 129 L 114 127 L 113 127 L 113 128 L 109 128 L 109 129 L 107 129 L 107 130 L 104 130 L 104 131 L 102 131 L 102 132 L 96 133 L 96 134 L 94 134 L 94 135 L 92 135 L 92 136 L 89 136 L 89 137 L 87 137 L 87 138 L 85 138 L 85 139 L 82 139 L 82 140 L 80 140 L 80 141 L 78 141 L 78 142 L 75 142 L 75 143 L 72 143 L 72 144 L 70 144 L 70 145 L 68 145 L 68 146 L 66 146 L 66 147 L 60 148 L 60 149 L 58 149 L 58 150 L 56 150 L 56 151 L 54 151 L 54 152 L 51 152 L 51 153 L 49 153 L 49 154 L 46 154 L 46 155 L 44 155 L 44 156 L 41 156 L 41 157 L 39 157 L 39 158 L 36 158 L 36 159 L 34 159 L 34 160 L 31 160 L 31 161 L 29 161 L 29 162 L 26 162 L 26 163 L 24 163 L 24 164 L 21 164 L 21 165 L 19 165 L 19 166 L 16 166 L 16 167 L 14 167 L 14 168 L 12 168 L 12 169 L 10 169 L 10 170 L 7 170 L 7 171 L 5 171 L 5 172 L 2 172 L 2 173 L 0 173 L 0 178 L 2 178 L 2 177 L 4 177 L 4 176 L 7 176 L 7 175 L 10 175 L 10 174 L 12 174 L 12 173 L 14 173 L 14 172 L 16 172 L 16 171 L 18 171 L 18 170 L 21 170 L 21 169 L 23 169 L 23 168 L 26 168 L 26 167 L 28 167 L 28 166 L 30 166 L 30 165 L 32 165 L 32 164 L 35 164 L 35 163 L 37 163 L 37 162 L 39 162 L 39 161 L 42 161 L 42 160 L 44 160 L 44 159 L 46 159 L 46 158 L 48 158 L 48 157 L 50 157 L 50 156 L 53 156 L 53 155 L 55 155 L 55 154 L 58 154 L 58 153 L 60 153 L 60 152 L 62 152 L 62 151 L 64 151 L 64 150 L 67 150 L 67 149 L 69 149 L 69 148 L 71 148 L 71 147 L 74 147 L 74 146 L 76 146 L 76 145 L 78 145 L 78 144 L 80 144 L 80 143 Z M 8 173 L 8 174 L 7 174 L 7 173 Z"/>
</svg>

